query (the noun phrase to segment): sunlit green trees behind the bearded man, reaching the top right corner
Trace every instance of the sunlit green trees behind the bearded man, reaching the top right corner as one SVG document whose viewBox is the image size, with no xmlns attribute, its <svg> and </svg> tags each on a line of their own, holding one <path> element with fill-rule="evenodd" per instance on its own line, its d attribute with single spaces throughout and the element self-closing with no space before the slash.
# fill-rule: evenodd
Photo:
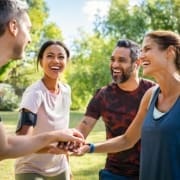
<svg viewBox="0 0 180 180">
<path fill-rule="evenodd" d="M 111 81 L 109 58 L 116 41 L 132 39 L 141 44 L 151 30 L 180 32 L 178 0 L 143 0 L 132 6 L 129 0 L 111 0 L 107 17 L 96 16 L 94 34 L 80 32 L 75 56 L 67 73 L 72 87 L 73 108 L 84 108 L 96 89 Z M 141 74 L 141 73 L 140 73 Z"/>
</svg>

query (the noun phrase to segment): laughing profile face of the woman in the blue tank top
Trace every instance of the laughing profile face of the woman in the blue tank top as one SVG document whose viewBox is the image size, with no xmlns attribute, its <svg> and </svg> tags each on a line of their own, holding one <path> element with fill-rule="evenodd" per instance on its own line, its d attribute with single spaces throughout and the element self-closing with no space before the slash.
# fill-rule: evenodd
<svg viewBox="0 0 180 180">
<path fill-rule="evenodd" d="M 166 50 L 161 50 L 150 37 L 145 37 L 140 54 L 143 74 L 153 76 L 167 68 Z"/>
</svg>

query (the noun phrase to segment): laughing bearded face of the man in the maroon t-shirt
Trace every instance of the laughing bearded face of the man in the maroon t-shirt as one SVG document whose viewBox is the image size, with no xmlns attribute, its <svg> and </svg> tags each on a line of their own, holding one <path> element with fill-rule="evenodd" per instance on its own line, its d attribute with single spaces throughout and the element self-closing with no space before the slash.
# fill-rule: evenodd
<svg viewBox="0 0 180 180">
<path fill-rule="evenodd" d="M 130 49 L 116 47 L 110 59 L 111 75 L 117 84 L 126 82 L 134 70 L 134 63 L 130 58 Z"/>
</svg>

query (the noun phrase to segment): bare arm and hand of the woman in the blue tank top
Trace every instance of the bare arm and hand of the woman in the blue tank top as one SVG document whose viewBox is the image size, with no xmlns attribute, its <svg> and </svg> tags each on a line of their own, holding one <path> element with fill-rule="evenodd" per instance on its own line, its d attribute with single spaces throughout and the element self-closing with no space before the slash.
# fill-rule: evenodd
<svg viewBox="0 0 180 180">
<path fill-rule="evenodd" d="M 147 113 L 147 108 L 149 105 L 149 100 L 152 94 L 152 89 L 148 90 L 139 107 L 138 113 L 136 114 L 135 119 L 130 124 L 125 134 L 108 139 L 102 143 L 96 143 L 94 145 L 94 152 L 96 153 L 115 153 L 119 151 L 124 151 L 126 149 L 132 148 L 135 143 L 140 139 L 141 128 Z M 80 149 L 80 155 L 89 152 L 90 148 L 88 145 L 85 145 Z"/>
</svg>

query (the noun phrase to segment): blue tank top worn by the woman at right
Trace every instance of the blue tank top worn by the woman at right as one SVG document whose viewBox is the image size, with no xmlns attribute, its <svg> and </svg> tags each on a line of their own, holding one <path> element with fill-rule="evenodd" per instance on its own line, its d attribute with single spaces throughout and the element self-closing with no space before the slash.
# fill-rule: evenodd
<svg viewBox="0 0 180 180">
<path fill-rule="evenodd" d="M 155 91 L 141 134 L 140 180 L 180 180 L 180 97 L 155 119 Z"/>
</svg>

